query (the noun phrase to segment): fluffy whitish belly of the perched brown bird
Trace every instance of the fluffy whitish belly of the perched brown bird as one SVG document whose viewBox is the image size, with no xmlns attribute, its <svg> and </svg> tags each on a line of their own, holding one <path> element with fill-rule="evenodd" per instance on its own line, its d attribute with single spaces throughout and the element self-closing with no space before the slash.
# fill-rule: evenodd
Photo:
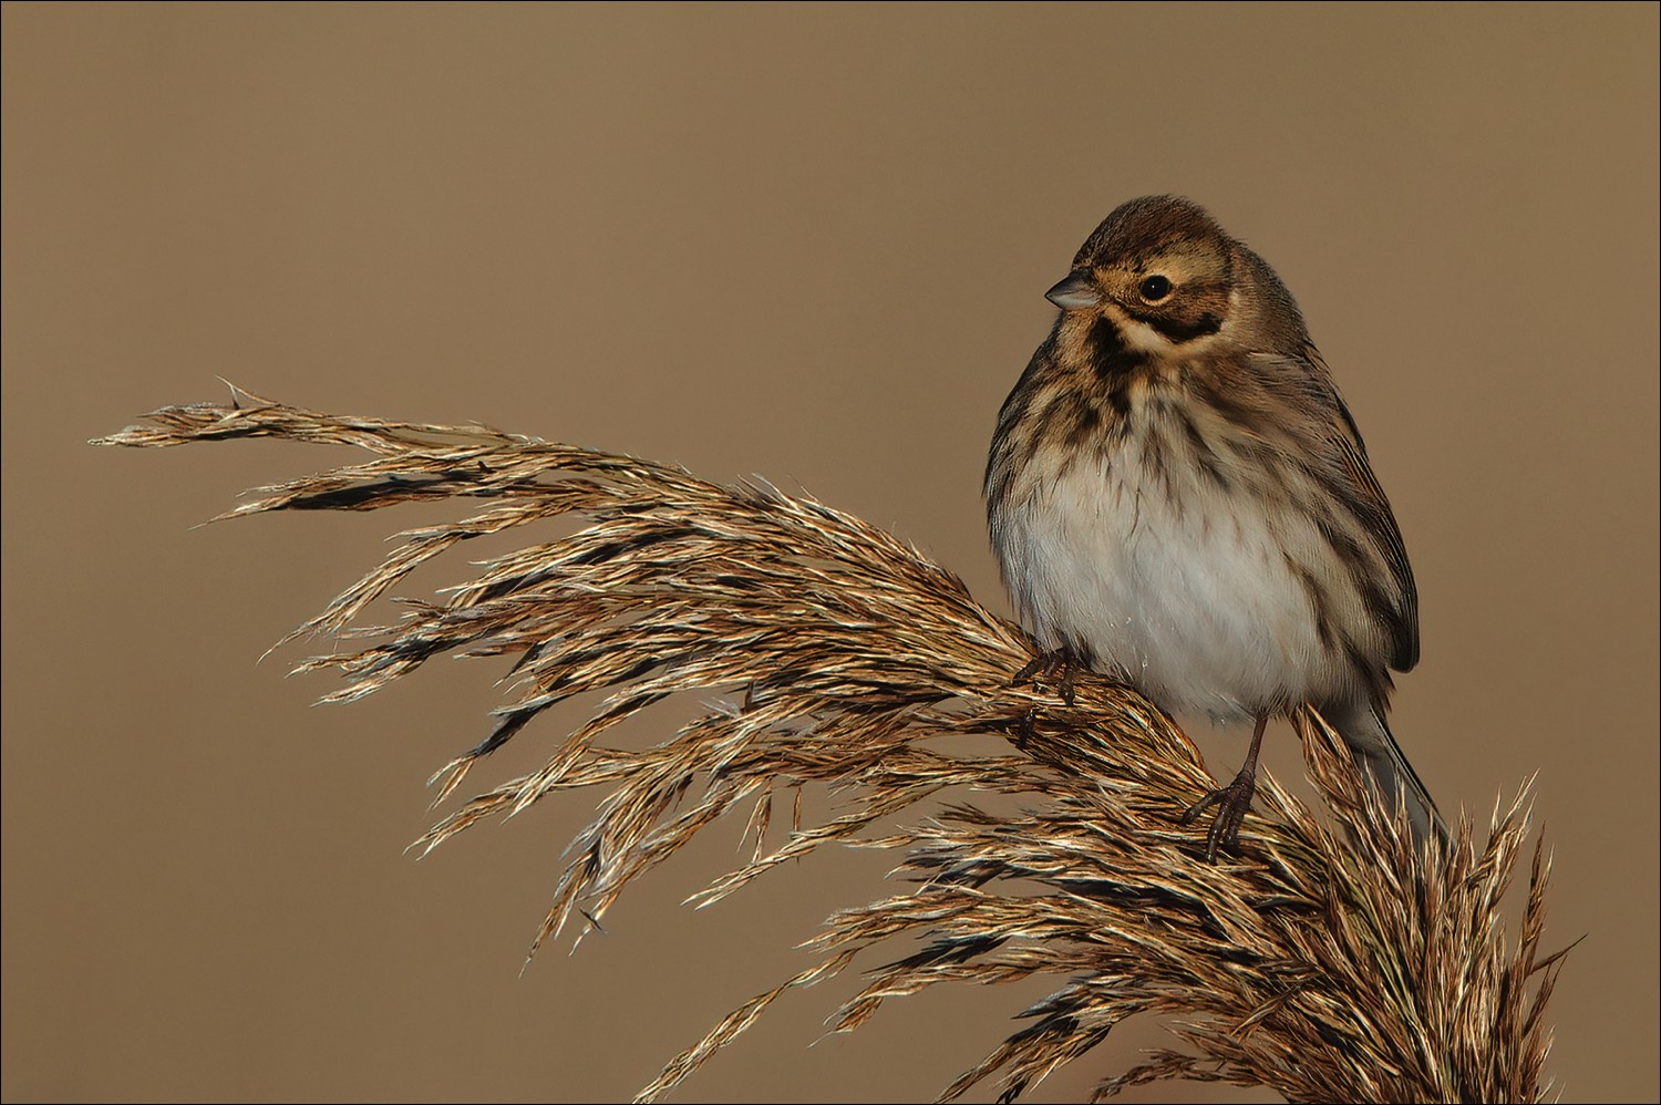
<svg viewBox="0 0 1661 1105">
<path fill-rule="evenodd" d="M 1294 513 L 1277 538 L 1251 492 L 1226 495 L 1199 472 L 1148 477 L 1129 449 L 1071 465 L 993 522 L 1005 580 L 1038 640 L 1081 646 L 1159 706 L 1218 721 L 1345 686 L 1350 673 L 1322 646 L 1282 553 L 1287 542 L 1317 547 L 1314 527 Z"/>
</svg>

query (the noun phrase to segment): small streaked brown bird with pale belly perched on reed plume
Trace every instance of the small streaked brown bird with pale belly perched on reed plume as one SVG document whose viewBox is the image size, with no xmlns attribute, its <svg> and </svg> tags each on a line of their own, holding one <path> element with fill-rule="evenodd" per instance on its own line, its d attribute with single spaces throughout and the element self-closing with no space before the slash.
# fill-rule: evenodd
<svg viewBox="0 0 1661 1105">
<path fill-rule="evenodd" d="M 987 513 L 1022 621 L 1058 666 L 1161 708 L 1256 721 L 1208 859 L 1234 847 L 1269 718 L 1311 705 L 1415 836 L 1447 832 L 1384 721 L 1418 661 L 1390 503 L 1274 269 L 1194 203 L 1110 214 L 1003 402 Z M 1065 676 L 1063 676 L 1065 678 Z"/>
</svg>

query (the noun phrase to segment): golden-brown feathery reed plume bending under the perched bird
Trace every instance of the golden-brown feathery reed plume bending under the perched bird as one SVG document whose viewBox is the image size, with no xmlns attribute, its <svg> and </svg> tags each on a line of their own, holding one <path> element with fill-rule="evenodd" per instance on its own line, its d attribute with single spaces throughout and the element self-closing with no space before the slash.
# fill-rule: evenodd
<svg viewBox="0 0 1661 1105">
<path fill-rule="evenodd" d="M 781 994 L 895 936 L 925 945 L 872 970 L 832 1017 L 835 1030 L 938 982 L 1063 979 L 947 1100 L 992 1075 L 1012 1100 L 1141 1012 L 1166 1017 L 1184 1047 L 1101 1082 L 1098 1098 L 1178 1077 L 1264 1085 L 1294 1102 L 1535 1102 L 1550 1092 L 1545 1007 L 1563 952 L 1541 950 L 1541 844 L 1513 950 L 1502 919 L 1528 831 L 1526 784 L 1497 804 L 1482 842 L 1462 821 L 1445 852 L 1417 852 L 1404 811 L 1385 809 L 1335 734 L 1304 713 L 1296 728 L 1329 809 L 1317 816 L 1266 779 L 1242 854 L 1213 866 L 1203 832 L 1176 823 L 1211 776 L 1159 710 L 1088 675 L 1071 701 L 1013 686 L 1035 656 L 1017 626 L 917 550 L 824 503 L 483 427 L 326 415 L 246 392 L 231 405 L 166 407 L 96 444 L 236 437 L 349 444 L 374 459 L 257 489 L 221 517 L 488 502 L 402 533 L 289 638 L 369 641 L 301 665 L 344 675 L 326 701 L 360 698 L 440 653 L 517 656 L 517 698 L 434 776 L 440 799 L 543 710 L 608 691 L 540 769 L 475 794 L 417 842 L 430 851 L 553 791 L 601 788 L 535 944 L 573 921 L 596 924 L 630 881 L 734 809 L 747 813 L 756 851 L 696 902 L 830 841 L 904 854 L 907 889 L 832 916 L 811 942 L 817 965 L 733 1012 L 639 1100 L 669 1092 Z M 442 602 L 409 602 L 397 625 L 355 626 L 453 545 L 568 513 L 586 525 L 487 562 Z M 726 698 L 643 751 L 601 743 L 678 691 Z M 968 734 L 1012 746 L 953 754 L 950 738 Z M 797 804 L 784 842 L 766 847 L 776 803 L 814 783 L 837 794 L 834 816 L 802 824 Z M 993 814 L 948 803 L 948 788 L 1025 806 Z M 867 832 L 899 811 L 924 816 Z"/>
</svg>

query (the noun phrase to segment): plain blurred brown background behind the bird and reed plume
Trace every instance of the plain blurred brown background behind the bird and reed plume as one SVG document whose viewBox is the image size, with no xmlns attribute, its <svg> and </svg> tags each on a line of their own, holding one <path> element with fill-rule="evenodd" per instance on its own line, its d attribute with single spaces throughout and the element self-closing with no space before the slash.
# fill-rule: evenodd
<svg viewBox="0 0 1661 1105">
<path fill-rule="evenodd" d="M 224 376 L 759 472 L 1003 610 L 978 479 L 1043 291 L 1179 191 L 1297 294 L 1395 503 L 1420 774 L 1485 818 L 1540 773 L 1565 1100 L 1656 1100 L 1656 42 L 1648 3 L 7 5 L 3 1097 L 626 1098 L 887 891 L 824 854 L 683 909 L 723 824 L 522 977 L 591 798 L 402 851 L 502 668 L 309 710 L 304 650 L 256 666 L 427 515 L 193 530 L 339 457 L 88 437 Z M 1053 982 L 819 1039 L 849 975 L 678 1100 L 927 1098 Z"/>
</svg>

